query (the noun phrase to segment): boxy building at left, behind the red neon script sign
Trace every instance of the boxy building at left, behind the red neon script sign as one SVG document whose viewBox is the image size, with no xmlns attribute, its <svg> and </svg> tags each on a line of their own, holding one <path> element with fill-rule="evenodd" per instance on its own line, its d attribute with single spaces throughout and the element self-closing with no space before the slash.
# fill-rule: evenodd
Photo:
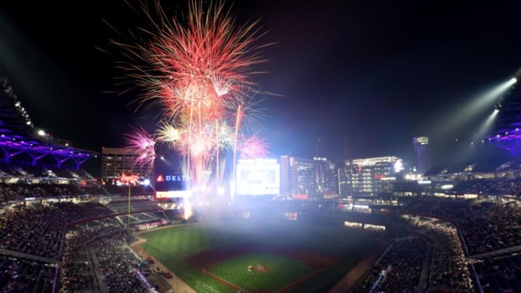
<svg viewBox="0 0 521 293">
<path fill-rule="evenodd" d="M 152 177 L 152 170 L 143 164 L 134 165 L 139 152 L 133 152 L 125 148 L 101 149 L 101 177 L 115 178 L 123 174 L 133 174 L 139 177 Z"/>
</svg>

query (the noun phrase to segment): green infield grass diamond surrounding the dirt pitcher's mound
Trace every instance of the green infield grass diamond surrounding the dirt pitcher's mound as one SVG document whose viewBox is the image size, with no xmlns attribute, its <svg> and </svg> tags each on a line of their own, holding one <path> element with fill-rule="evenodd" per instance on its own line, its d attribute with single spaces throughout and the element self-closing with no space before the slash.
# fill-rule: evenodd
<svg viewBox="0 0 521 293">
<path fill-rule="evenodd" d="M 249 272 L 248 266 L 258 263 L 269 272 Z M 277 290 L 300 276 L 311 272 L 310 267 L 299 260 L 274 254 L 246 254 L 215 265 L 210 272 L 245 290 Z"/>
</svg>

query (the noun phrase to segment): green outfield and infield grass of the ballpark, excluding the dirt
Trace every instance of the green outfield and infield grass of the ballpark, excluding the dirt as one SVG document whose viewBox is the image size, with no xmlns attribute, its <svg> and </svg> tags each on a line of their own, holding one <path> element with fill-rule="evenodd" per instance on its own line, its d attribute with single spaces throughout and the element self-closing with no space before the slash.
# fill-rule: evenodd
<svg viewBox="0 0 521 293">
<path fill-rule="evenodd" d="M 375 233 L 370 231 L 315 222 L 214 221 L 150 231 L 142 235 L 147 238 L 147 242 L 141 247 L 197 292 L 209 293 L 236 290 L 203 274 L 200 269 L 183 263 L 183 258 L 210 249 L 249 244 L 281 250 L 309 251 L 326 258 L 342 256 L 341 262 L 324 269 L 292 290 L 306 292 L 304 289 L 308 287 L 320 288 L 320 291 L 332 287 L 372 249 L 368 244 L 372 242 L 374 235 Z M 263 263 L 270 268 L 270 272 L 247 272 L 248 265 L 256 263 Z M 249 291 L 274 291 L 311 271 L 312 269 L 302 261 L 269 251 L 243 254 L 209 267 L 209 272 Z M 324 279 L 327 279 L 326 283 Z"/>
</svg>

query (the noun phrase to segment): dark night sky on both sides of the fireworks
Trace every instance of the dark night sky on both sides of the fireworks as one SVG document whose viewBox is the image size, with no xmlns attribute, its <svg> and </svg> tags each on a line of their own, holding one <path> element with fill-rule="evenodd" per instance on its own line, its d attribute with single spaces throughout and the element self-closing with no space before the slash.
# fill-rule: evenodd
<svg viewBox="0 0 521 293">
<path fill-rule="evenodd" d="M 179 14 L 186 1 L 161 3 Z M 260 19 L 267 30 L 260 43 L 276 42 L 256 68 L 267 73 L 254 78 L 277 94 L 261 105 L 260 136 L 272 155 L 312 157 L 321 138 L 321 154 L 342 158 L 346 136 L 351 157 L 412 159 L 412 137 L 427 135 L 435 162 L 454 159 L 461 153 L 454 139 L 493 108 L 450 121 L 521 68 L 521 3 L 337 2 L 233 3 L 239 23 Z M 117 0 L 0 3 L 0 66 L 33 123 L 98 152 L 123 145 L 130 126 L 152 130 L 157 114 L 127 105 L 136 92 L 103 93 L 121 90 L 114 80 L 122 75 L 114 69 L 121 55 L 109 38 L 125 39 L 102 19 L 121 31 L 144 24 Z"/>
</svg>

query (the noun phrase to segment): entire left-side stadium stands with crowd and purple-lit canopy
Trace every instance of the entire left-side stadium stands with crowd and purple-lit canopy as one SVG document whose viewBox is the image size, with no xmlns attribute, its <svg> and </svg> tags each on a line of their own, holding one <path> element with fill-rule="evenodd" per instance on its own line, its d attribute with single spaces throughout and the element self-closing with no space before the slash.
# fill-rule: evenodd
<svg viewBox="0 0 521 293">
<path fill-rule="evenodd" d="M 80 168 L 95 152 L 37 130 L 1 71 L 0 133 L 0 292 L 148 292 L 132 272 L 140 265 L 126 246 L 133 238 L 114 217 L 127 211 L 126 200 L 107 208 L 93 197 L 127 195 L 127 188 L 105 190 Z M 132 201 L 132 211 L 141 209 L 161 210 L 150 199 Z M 166 222 L 160 216 L 132 218 Z"/>
</svg>

